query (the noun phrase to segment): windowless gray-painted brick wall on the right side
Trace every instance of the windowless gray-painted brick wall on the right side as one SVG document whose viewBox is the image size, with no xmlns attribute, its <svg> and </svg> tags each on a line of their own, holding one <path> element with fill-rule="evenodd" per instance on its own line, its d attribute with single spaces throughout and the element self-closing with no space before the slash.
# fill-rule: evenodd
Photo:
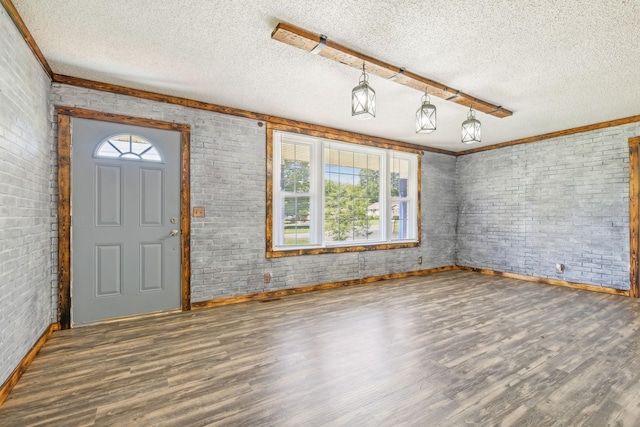
<svg viewBox="0 0 640 427">
<path fill-rule="evenodd" d="M 629 289 L 637 135 L 634 123 L 458 157 L 457 264 Z"/>
</svg>

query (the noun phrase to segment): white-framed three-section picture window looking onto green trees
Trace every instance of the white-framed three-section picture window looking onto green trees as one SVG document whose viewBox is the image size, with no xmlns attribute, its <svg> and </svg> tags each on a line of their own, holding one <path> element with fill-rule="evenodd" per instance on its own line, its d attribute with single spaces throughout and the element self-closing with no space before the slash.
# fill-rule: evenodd
<svg viewBox="0 0 640 427">
<path fill-rule="evenodd" d="M 272 143 L 267 256 L 418 244 L 418 154 L 277 130 Z"/>
</svg>

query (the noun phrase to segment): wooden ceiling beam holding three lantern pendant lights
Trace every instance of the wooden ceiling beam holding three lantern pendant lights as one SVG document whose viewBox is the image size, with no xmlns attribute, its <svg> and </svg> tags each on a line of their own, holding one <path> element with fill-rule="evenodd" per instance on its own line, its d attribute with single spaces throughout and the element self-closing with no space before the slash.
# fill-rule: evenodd
<svg viewBox="0 0 640 427">
<path fill-rule="evenodd" d="M 328 40 L 324 36 L 313 34 L 302 28 L 294 27 L 293 25 L 282 22 L 279 23 L 273 30 L 273 33 L 271 33 L 271 38 L 353 68 L 361 69 L 362 64 L 364 64 L 369 74 L 376 75 L 383 79 L 393 80 L 396 83 L 420 92 L 426 91 L 429 95 L 455 102 L 465 107 L 473 107 L 476 111 L 481 111 L 495 117 L 503 118 L 513 114 L 512 111 L 502 108 L 502 106 L 475 98 L 458 89 L 448 87 L 435 80 L 406 71 L 404 68 L 388 64 L 379 59 L 349 49 L 348 47 Z"/>
</svg>

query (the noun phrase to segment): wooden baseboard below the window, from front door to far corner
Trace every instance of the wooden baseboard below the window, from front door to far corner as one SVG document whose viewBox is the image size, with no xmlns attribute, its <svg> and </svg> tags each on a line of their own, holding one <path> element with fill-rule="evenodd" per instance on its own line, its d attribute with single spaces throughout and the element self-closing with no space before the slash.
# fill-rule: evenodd
<svg viewBox="0 0 640 427">
<path fill-rule="evenodd" d="M 379 282 L 381 280 L 402 279 L 411 276 L 426 276 L 432 273 L 439 273 L 441 271 L 455 270 L 456 266 L 449 265 L 446 267 L 428 268 L 425 270 L 408 271 L 404 273 L 386 274 L 384 276 L 372 276 L 363 277 L 361 279 L 344 280 L 341 282 L 323 283 L 319 285 L 301 286 L 298 288 L 280 289 L 277 291 L 258 292 L 255 294 L 238 295 L 234 297 L 217 298 L 207 301 L 198 301 L 191 304 L 192 310 L 198 310 L 201 308 L 218 307 L 221 305 L 238 304 L 247 301 L 260 301 L 270 298 L 280 298 L 287 295 L 304 294 L 307 292 L 322 291 L 327 289 L 342 288 L 345 286 L 363 285 L 367 283 Z"/>
</svg>

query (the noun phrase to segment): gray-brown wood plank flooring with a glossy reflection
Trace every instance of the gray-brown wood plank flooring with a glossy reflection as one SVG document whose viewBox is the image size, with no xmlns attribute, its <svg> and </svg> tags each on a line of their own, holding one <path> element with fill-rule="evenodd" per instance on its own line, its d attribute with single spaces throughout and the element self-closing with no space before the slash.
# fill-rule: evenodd
<svg viewBox="0 0 640 427">
<path fill-rule="evenodd" d="M 1 426 L 638 426 L 640 305 L 437 273 L 55 332 Z"/>
</svg>

